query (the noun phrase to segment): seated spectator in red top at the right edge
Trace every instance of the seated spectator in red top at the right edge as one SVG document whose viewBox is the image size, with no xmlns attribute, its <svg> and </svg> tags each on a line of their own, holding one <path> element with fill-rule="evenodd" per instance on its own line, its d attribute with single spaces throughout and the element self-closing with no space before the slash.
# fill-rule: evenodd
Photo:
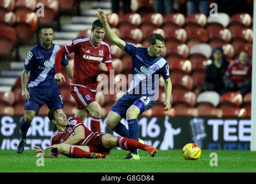
<svg viewBox="0 0 256 184">
<path fill-rule="evenodd" d="M 248 52 L 240 52 L 239 60 L 229 64 L 223 81 L 225 88 L 221 90 L 221 94 L 238 91 L 246 95 L 251 92 L 251 61 Z"/>
</svg>

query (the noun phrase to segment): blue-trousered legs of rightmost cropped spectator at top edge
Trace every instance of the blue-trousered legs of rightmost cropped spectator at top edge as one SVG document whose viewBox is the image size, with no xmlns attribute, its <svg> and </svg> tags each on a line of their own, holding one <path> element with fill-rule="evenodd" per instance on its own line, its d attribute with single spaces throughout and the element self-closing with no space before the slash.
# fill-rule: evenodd
<svg viewBox="0 0 256 184">
<path fill-rule="evenodd" d="M 206 17 L 209 14 L 209 5 L 208 0 L 188 0 L 187 1 L 187 16 L 190 16 L 193 13 L 197 13 L 197 7 L 199 13 L 203 13 Z"/>
</svg>

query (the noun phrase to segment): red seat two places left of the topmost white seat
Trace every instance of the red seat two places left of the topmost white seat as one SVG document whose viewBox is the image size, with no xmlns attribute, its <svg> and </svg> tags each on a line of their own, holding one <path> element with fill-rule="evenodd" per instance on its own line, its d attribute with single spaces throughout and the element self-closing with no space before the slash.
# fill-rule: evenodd
<svg viewBox="0 0 256 184">
<path fill-rule="evenodd" d="M 164 17 L 164 25 L 183 27 L 185 24 L 185 17 L 181 13 L 172 13 Z"/>
</svg>

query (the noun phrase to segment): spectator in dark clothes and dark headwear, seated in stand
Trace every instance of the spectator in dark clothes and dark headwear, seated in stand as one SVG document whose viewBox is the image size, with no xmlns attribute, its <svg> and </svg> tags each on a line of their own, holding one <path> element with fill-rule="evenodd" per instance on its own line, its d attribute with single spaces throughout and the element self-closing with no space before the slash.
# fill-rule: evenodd
<svg viewBox="0 0 256 184">
<path fill-rule="evenodd" d="M 205 85 L 203 91 L 220 91 L 224 88 L 223 76 L 228 68 L 228 62 L 224 57 L 222 47 L 213 49 L 213 62 L 206 67 Z"/>
</svg>

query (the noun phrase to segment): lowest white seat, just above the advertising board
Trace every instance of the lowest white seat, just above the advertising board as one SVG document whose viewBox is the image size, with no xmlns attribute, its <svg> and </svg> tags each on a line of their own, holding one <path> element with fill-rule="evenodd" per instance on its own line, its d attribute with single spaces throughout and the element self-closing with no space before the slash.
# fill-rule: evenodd
<svg viewBox="0 0 256 184">
<path fill-rule="evenodd" d="M 220 104 L 220 95 L 216 91 L 204 91 L 200 93 L 196 98 L 198 104 L 210 104 L 213 107 L 217 107 Z"/>
</svg>

